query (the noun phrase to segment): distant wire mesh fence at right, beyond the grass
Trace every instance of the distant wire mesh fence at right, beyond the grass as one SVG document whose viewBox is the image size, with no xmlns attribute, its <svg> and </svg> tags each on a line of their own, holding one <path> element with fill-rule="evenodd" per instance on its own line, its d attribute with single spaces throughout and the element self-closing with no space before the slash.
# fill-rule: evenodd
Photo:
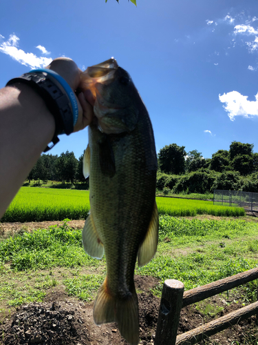
<svg viewBox="0 0 258 345">
<path fill-rule="evenodd" d="M 258 212 L 258 193 L 241 190 L 214 190 L 213 205 L 239 206 L 245 210 Z"/>
</svg>

